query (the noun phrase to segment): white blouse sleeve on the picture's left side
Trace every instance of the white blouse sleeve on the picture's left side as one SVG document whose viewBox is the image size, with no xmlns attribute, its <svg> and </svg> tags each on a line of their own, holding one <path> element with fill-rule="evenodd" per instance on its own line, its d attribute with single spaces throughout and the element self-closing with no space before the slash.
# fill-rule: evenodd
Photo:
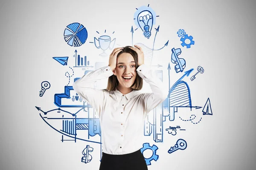
<svg viewBox="0 0 256 170">
<path fill-rule="evenodd" d="M 95 89 L 93 86 L 97 80 L 106 79 L 111 75 L 113 75 L 111 68 L 105 66 L 84 75 L 73 84 L 73 89 L 76 93 L 96 110 L 98 116 L 102 113 L 107 92 L 103 89 Z"/>
</svg>

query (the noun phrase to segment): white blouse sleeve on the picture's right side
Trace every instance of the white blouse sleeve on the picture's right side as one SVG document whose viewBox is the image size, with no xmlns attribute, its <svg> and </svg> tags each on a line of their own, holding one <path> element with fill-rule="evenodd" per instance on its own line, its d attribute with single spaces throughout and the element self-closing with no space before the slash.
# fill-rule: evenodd
<svg viewBox="0 0 256 170">
<path fill-rule="evenodd" d="M 157 105 L 162 103 L 168 96 L 168 91 L 164 90 L 163 82 L 156 76 L 154 70 L 143 64 L 137 68 L 137 74 L 147 82 L 152 93 L 146 93 L 144 97 L 145 112 L 148 113 Z"/>
</svg>

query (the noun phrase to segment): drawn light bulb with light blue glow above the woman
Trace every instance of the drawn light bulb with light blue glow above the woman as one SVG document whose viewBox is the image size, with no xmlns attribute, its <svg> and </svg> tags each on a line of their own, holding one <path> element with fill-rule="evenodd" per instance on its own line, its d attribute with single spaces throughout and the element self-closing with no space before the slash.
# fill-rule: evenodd
<svg viewBox="0 0 256 170">
<path fill-rule="evenodd" d="M 156 13 L 154 10 L 148 6 L 141 6 L 136 8 L 137 11 L 134 13 L 135 25 L 143 31 L 146 38 L 149 39 L 151 36 L 152 26 L 155 24 Z"/>
</svg>

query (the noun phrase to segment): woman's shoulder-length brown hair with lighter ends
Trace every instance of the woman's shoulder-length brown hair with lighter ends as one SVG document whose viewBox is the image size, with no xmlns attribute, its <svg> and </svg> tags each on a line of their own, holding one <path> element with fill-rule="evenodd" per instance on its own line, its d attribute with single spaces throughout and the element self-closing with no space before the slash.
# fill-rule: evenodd
<svg viewBox="0 0 256 170">
<path fill-rule="evenodd" d="M 132 57 L 134 57 L 134 61 L 135 61 L 135 67 L 136 69 L 139 67 L 138 66 L 138 56 L 137 56 L 137 53 L 136 51 L 132 50 L 131 48 L 129 48 L 131 46 L 125 46 L 122 51 L 120 51 L 118 54 L 117 54 L 117 57 L 119 57 L 120 54 L 122 53 L 129 53 L 132 55 Z M 116 57 L 116 58 L 117 58 Z M 108 91 L 115 91 L 116 90 L 116 87 L 118 85 L 118 79 L 117 77 L 113 74 L 111 77 L 108 77 L 108 86 L 107 86 L 107 90 Z M 142 86 L 143 86 L 143 79 L 137 74 L 136 75 L 136 78 L 135 78 L 135 81 L 134 81 L 134 84 L 131 85 L 131 88 L 133 90 L 141 90 L 142 89 Z"/>
</svg>

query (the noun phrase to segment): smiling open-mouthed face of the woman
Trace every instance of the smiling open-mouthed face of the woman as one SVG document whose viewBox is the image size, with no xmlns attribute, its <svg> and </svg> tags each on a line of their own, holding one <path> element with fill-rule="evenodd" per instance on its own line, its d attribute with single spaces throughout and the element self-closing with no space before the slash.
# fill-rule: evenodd
<svg viewBox="0 0 256 170">
<path fill-rule="evenodd" d="M 122 88 L 130 88 L 134 84 L 137 76 L 134 57 L 129 53 L 122 53 L 117 57 L 116 68 L 113 70 L 116 75 L 119 86 Z M 131 79 L 125 79 L 131 78 Z"/>
</svg>

